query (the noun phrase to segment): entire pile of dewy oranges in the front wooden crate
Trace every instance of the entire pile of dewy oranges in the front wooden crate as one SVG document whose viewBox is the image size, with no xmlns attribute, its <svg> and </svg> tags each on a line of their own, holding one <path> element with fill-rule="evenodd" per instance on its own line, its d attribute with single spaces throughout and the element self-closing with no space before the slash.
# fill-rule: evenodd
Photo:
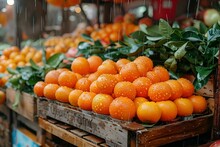
<svg viewBox="0 0 220 147">
<path fill-rule="evenodd" d="M 204 97 L 193 95 L 189 80 L 170 79 L 164 67 L 154 67 L 146 56 L 117 62 L 78 57 L 71 70 L 48 72 L 44 81 L 36 83 L 34 93 L 112 118 L 137 117 L 145 123 L 172 121 L 207 108 Z"/>
</svg>

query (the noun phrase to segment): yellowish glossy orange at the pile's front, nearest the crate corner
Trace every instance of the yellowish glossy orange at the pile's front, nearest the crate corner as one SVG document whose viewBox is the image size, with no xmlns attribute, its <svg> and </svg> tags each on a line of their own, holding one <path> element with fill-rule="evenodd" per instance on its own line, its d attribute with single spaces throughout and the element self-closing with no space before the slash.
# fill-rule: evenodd
<svg viewBox="0 0 220 147">
<path fill-rule="evenodd" d="M 161 117 L 161 110 L 155 102 L 144 102 L 137 109 L 137 117 L 144 123 L 157 123 Z"/>
</svg>

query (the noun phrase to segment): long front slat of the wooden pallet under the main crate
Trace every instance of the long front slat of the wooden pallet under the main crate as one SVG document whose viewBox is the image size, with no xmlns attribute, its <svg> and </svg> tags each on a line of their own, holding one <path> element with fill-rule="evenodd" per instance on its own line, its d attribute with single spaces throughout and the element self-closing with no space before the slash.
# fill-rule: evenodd
<svg viewBox="0 0 220 147">
<path fill-rule="evenodd" d="M 48 121 L 39 118 L 39 125 L 41 128 L 45 129 L 47 132 L 75 145 L 75 146 L 80 146 L 80 147 L 96 147 L 97 145 L 87 141 L 67 130 L 64 130 L 55 124 L 51 124 Z"/>
</svg>

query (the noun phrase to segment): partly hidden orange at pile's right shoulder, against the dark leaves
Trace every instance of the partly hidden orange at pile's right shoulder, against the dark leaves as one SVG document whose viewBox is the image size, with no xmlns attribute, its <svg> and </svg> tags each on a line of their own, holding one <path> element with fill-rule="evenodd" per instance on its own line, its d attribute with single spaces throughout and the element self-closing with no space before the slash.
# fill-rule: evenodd
<svg viewBox="0 0 220 147">
<path fill-rule="evenodd" d="M 159 76 L 161 82 L 164 82 L 170 79 L 169 72 L 167 71 L 166 68 L 162 66 L 155 66 L 153 68 L 153 71 Z"/>
</svg>

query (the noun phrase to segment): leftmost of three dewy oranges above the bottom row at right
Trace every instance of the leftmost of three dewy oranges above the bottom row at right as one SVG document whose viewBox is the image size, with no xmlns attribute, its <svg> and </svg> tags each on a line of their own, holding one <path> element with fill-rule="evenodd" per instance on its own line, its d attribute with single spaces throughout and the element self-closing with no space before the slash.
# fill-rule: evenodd
<svg viewBox="0 0 220 147">
<path fill-rule="evenodd" d="M 172 89 L 165 82 L 155 83 L 148 89 L 148 96 L 152 101 L 165 101 L 172 95 Z"/>
</svg>

